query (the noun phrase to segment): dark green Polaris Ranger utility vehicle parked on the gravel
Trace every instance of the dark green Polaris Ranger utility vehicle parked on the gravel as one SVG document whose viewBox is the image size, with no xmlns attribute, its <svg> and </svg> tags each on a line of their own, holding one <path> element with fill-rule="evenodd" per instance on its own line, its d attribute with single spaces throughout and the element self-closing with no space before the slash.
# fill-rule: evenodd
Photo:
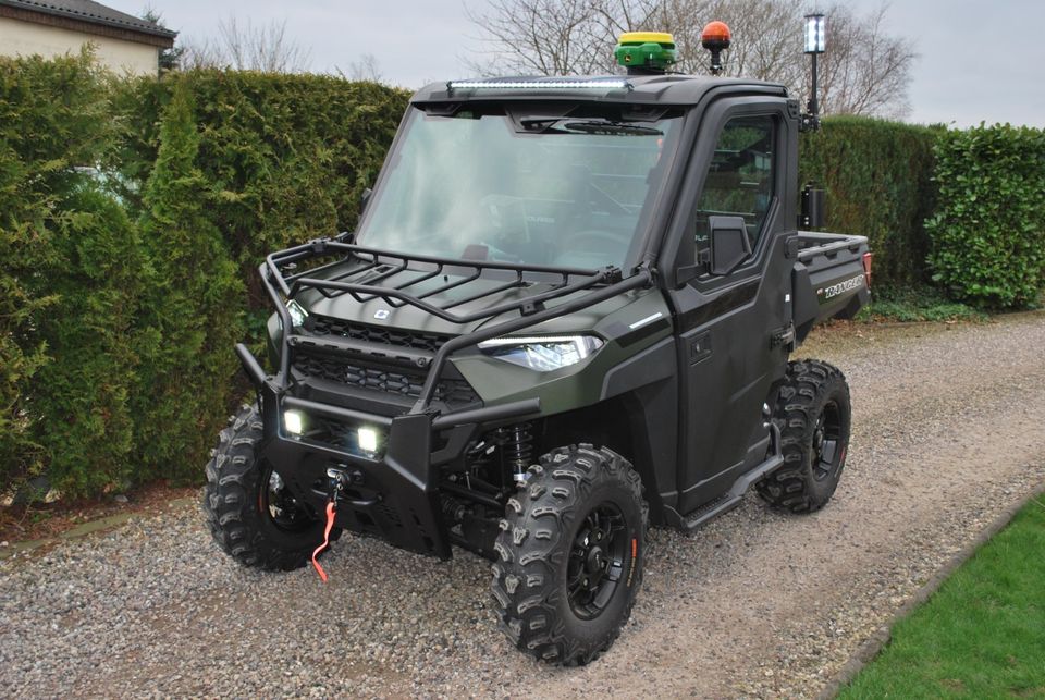
<svg viewBox="0 0 1045 700">
<path fill-rule="evenodd" d="M 494 561 L 513 643 L 582 664 L 630 614 L 648 523 L 692 531 L 752 486 L 827 503 L 849 390 L 788 356 L 869 299 L 870 255 L 798 230 L 815 114 L 667 73 L 669 35 L 617 56 L 627 76 L 426 87 L 357 230 L 266 259 L 273 371 L 236 347 L 257 403 L 207 466 L 225 552 L 325 579 L 343 529 L 457 545 Z"/>
</svg>

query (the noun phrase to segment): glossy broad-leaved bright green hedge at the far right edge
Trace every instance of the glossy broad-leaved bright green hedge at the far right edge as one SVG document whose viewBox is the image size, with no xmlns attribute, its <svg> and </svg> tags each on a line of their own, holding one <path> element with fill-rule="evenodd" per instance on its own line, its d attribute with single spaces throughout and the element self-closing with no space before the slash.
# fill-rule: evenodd
<svg viewBox="0 0 1045 700">
<path fill-rule="evenodd" d="M 926 222 L 933 280 L 981 307 L 1036 305 L 1045 288 L 1045 132 L 947 132 L 936 162 L 939 206 Z"/>
</svg>

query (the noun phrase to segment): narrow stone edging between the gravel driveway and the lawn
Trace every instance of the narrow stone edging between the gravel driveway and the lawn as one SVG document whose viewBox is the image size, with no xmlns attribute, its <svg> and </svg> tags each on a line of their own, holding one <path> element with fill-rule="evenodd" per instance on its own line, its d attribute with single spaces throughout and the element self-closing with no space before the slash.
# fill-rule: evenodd
<svg viewBox="0 0 1045 700">
<path fill-rule="evenodd" d="M 834 675 L 826 687 L 816 695 L 817 700 L 832 700 L 836 698 L 841 690 L 849 685 L 865 666 L 874 661 L 883 649 L 893 638 L 893 627 L 901 619 L 908 617 L 923 603 L 927 602 L 933 594 L 939 590 L 944 581 L 950 578 L 958 568 L 972 558 L 972 555 L 981 547 L 989 542 L 995 535 L 1005 529 L 1012 521 L 1016 514 L 1022 511 L 1031 501 L 1045 494 L 1045 483 L 1040 483 L 1026 496 L 1020 499 L 1005 511 L 1003 511 L 986 528 L 967 544 L 960 552 L 955 554 L 943 567 L 936 570 L 933 576 L 919 588 L 910 599 L 908 599 L 899 610 L 897 610 L 889 622 L 880 627 L 871 638 L 857 647 L 857 650 L 849 658 L 849 661 Z"/>
</svg>

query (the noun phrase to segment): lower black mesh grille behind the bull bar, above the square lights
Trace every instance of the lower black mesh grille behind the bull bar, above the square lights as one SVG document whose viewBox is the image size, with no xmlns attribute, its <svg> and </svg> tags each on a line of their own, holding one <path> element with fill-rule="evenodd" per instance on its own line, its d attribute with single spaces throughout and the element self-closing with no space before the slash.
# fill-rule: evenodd
<svg viewBox="0 0 1045 700">
<path fill-rule="evenodd" d="M 409 398 L 417 398 L 421 395 L 421 386 L 423 386 L 426 378 L 423 370 L 413 371 L 402 367 L 389 368 L 357 359 L 302 353 L 295 356 L 294 368 L 309 377 L 325 379 L 346 386 L 368 389 Z M 443 379 L 435 386 L 434 400 L 442 401 L 456 408 L 479 402 L 479 395 L 463 379 Z"/>
</svg>

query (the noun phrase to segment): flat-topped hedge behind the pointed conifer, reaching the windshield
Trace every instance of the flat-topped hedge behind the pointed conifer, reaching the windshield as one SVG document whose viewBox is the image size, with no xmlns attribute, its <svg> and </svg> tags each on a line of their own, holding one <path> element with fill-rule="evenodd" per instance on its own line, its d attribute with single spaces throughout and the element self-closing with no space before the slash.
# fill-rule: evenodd
<svg viewBox="0 0 1045 700">
<path fill-rule="evenodd" d="M 269 253 L 355 226 L 409 94 L 321 75 L 192 71 L 116 83 L 122 139 L 111 164 L 144 182 L 162 113 L 177 85 L 195 101 L 196 165 L 211 194 L 206 216 L 243 267 L 251 308 L 268 308 L 257 267 Z M 122 194 L 142 208 L 133 186 Z"/>
</svg>

